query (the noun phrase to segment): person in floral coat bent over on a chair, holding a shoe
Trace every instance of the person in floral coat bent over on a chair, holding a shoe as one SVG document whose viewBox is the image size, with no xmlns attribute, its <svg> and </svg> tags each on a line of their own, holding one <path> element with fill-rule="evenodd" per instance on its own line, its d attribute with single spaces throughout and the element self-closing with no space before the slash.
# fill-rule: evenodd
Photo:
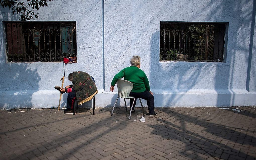
<svg viewBox="0 0 256 160">
<path fill-rule="evenodd" d="M 66 90 L 60 90 L 68 93 L 67 109 L 64 111 L 64 113 L 72 114 L 72 109 L 76 99 L 78 104 L 87 102 L 98 93 L 98 90 L 94 81 L 92 80 L 92 77 L 86 72 L 78 71 L 70 73 L 68 75 L 68 79 L 72 82 L 72 84 L 66 86 Z"/>
</svg>

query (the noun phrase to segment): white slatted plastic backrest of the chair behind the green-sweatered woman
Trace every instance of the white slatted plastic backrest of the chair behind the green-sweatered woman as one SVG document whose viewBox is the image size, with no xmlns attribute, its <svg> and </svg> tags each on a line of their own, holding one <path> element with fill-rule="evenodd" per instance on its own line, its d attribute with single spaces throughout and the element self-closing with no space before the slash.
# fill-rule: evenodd
<svg viewBox="0 0 256 160">
<path fill-rule="evenodd" d="M 131 90 L 133 89 L 132 82 L 119 79 L 116 81 L 118 96 L 121 98 L 128 98 Z"/>
</svg>

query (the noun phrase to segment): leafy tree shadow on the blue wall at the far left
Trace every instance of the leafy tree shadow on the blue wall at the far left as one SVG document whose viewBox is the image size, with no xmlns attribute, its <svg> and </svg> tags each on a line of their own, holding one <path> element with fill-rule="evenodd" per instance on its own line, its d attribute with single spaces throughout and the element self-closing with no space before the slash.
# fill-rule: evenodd
<svg viewBox="0 0 256 160">
<path fill-rule="evenodd" d="M 2 8 L 3 9 L 3 8 Z M 18 17 L 9 13 L 10 10 L 1 10 L 3 20 L 17 20 Z M 41 80 L 37 69 L 34 69 L 30 63 L 6 63 L 6 48 L 4 47 L 3 24 L 0 25 L 0 86 L 2 102 L 1 108 L 31 108 L 33 94 L 39 90 L 39 81 Z M 43 100 L 41 100 L 43 101 Z M 40 102 L 38 102 L 40 103 Z"/>
</svg>

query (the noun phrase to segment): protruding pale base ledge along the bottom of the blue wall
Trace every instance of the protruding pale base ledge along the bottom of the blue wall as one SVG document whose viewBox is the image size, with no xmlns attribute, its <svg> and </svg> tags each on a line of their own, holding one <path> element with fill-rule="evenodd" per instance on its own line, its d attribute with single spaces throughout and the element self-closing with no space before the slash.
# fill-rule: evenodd
<svg viewBox="0 0 256 160">
<path fill-rule="evenodd" d="M 117 92 L 105 92 L 98 90 L 95 95 L 96 108 L 112 108 Z M 155 107 L 207 107 L 207 106 L 253 106 L 256 105 L 256 92 L 248 92 L 246 89 L 236 90 L 153 90 Z M 60 107 L 66 107 L 67 95 L 61 97 Z M 57 108 L 60 93 L 56 90 L 39 91 L 1 91 L 0 108 Z M 126 100 L 130 106 L 129 100 Z M 147 106 L 142 100 L 143 106 Z M 119 98 L 116 107 L 124 107 L 124 100 Z M 137 101 L 137 107 L 140 102 Z M 92 107 L 92 101 L 79 107 Z"/>
</svg>

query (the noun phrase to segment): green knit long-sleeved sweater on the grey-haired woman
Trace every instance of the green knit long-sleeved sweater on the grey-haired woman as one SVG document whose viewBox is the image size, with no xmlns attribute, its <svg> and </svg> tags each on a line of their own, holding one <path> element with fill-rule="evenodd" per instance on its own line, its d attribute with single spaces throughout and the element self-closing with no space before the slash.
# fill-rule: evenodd
<svg viewBox="0 0 256 160">
<path fill-rule="evenodd" d="M 111 82 L 111 86 L 115 86 L 116 81 L 121 78 L 132 82 L 133 89 L 131 92 L 144 92 L 145 90 L 150 91 L 146 74 L 136 66 L 126 67 L 117 73 Z"/>
</svg>

